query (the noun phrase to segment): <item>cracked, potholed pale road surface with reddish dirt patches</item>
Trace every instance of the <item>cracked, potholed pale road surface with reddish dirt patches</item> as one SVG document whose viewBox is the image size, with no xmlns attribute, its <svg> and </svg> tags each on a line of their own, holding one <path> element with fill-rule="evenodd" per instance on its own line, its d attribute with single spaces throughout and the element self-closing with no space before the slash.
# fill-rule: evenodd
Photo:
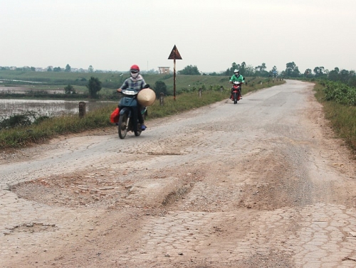
<svg viewBox="0 0 356 268">
<path fill-rule="evenodd" d="M 313 84 L 147 125 L 1 152 L 0 267 L 356 267 L 355 159 Z"/>
</svg>

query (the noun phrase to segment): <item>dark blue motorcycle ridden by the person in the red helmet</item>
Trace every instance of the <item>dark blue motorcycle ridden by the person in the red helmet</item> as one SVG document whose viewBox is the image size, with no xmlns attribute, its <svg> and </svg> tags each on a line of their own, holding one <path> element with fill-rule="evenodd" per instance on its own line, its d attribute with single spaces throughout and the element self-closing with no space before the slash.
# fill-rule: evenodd
<svg viewBox="0 0 356 268">
<path fill-rule="evenodd" d="M 120 139 L 125 139 L 127 132 L 134 132 L 135 136 L 140 136 L 142 129 L 141 124 L 137 118 L 137 94 L 138 92 L 129 88 L 127 90 L 122 90 L 122 98 L 119 103 L 120 107 L 120 117 L 118 125 L 118 133 Z M 147 114 L 147 107 L 141 109 L 141 114 L 143 119 Z"/>
</svg>

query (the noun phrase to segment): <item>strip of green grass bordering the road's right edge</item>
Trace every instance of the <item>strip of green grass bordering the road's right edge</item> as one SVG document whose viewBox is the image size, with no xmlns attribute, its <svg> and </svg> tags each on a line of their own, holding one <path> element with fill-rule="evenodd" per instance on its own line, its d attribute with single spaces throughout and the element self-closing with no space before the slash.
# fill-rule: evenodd
<svg viewBox="0 0 356 268">
<path fill-rule="evenodd" d="M 324 86 L 315 84 L 315 97 L 323 104 L 325 118 L 330 120 L 337 136 L 344 139 L 356 154 L 356 107 L 340 104 L 335 100 L 326 101 Z"/>
</svg>

